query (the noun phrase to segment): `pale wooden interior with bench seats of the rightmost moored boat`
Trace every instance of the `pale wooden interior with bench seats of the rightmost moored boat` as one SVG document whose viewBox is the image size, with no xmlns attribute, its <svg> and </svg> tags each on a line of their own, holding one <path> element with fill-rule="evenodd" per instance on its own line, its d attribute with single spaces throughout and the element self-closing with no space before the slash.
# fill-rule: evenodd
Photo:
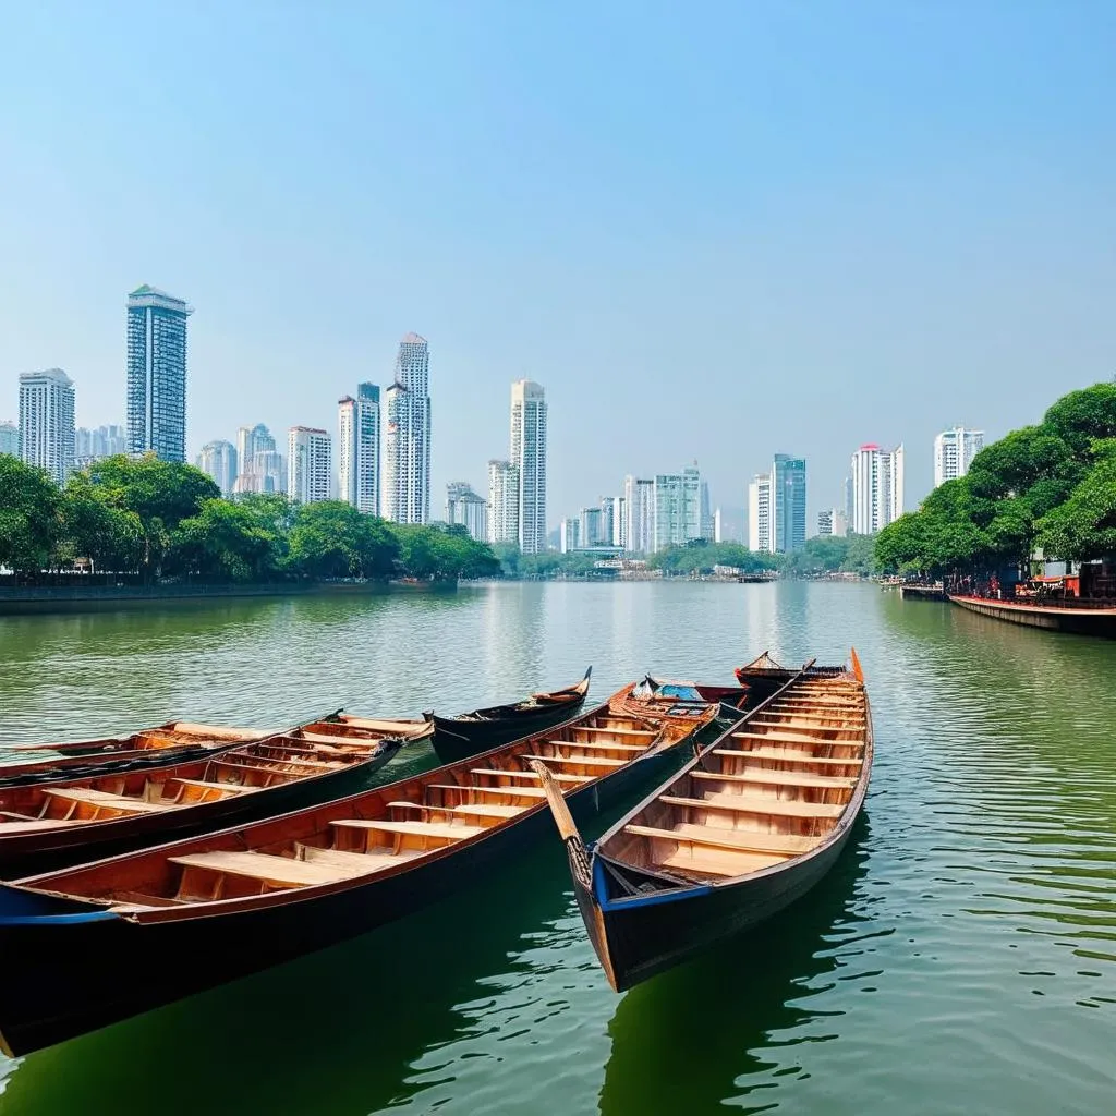
<svg viewBox="0 0 1116 1116">
<path fill-rule="evenodd" d="M 666 877 L 666 886 L 783 864 L 838 825 L 869 748 L 863 683 L 805 677 L 690 764 L 598 852 L 606 864 Z"/>
</svg>

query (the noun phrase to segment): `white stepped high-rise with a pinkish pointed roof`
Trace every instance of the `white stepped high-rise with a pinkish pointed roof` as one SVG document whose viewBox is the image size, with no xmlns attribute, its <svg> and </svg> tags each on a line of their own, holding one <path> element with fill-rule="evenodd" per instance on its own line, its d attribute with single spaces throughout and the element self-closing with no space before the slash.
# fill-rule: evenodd
<svg viewBox="0 0 1116 1116">
<path fill-rule="evenodd" d="M 384 477 L 381 514 L 396 523 L 430 520 L 430 348 L 407 334 L 384 393 Z"/>
</svg>

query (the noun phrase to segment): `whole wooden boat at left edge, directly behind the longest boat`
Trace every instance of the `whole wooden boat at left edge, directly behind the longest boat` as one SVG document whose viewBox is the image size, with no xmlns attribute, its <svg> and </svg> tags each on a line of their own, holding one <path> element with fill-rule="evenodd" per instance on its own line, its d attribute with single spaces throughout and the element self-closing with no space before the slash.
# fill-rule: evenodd
<svg viewBox="0 0 1116 1116">
<path fill-rule="evenodd" d="M 278 733 L 189 763 L 0 789 L 0 877 L 123 853 L 346 795 L 402 747 Z"/>
</svg>

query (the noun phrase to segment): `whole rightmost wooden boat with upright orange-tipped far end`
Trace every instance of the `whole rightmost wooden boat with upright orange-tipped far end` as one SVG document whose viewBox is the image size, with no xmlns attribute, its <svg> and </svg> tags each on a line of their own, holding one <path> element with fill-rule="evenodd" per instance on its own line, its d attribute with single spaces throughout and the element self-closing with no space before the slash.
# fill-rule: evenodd
<svg viewBox="0 0 1116 1116">
<path fill-rule="evenodd" d="M 809 891 L 840 854 L 870 770 L 855 652 L 850 673 L 795 674 L 593 846 L 537 769 L 612 987 L 624 991 Z"/>
</svg>

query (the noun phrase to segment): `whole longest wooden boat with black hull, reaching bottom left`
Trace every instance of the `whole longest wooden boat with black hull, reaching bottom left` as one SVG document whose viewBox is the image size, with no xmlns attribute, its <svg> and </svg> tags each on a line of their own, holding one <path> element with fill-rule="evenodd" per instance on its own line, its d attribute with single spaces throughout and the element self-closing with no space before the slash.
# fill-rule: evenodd
<svg viewBox="0 0 1116 1116">
<path fill-rule="evenodd" d="M 586 817 L 654 779 L 715 713 L 638 719 L 606 702 L 339 801 L 0 885 L 0 956 L 20 959 L 4 969 L 0 1048 L 28 1054 L 426 906 L 546 835 L 529 762 Z"/>
</svg>

